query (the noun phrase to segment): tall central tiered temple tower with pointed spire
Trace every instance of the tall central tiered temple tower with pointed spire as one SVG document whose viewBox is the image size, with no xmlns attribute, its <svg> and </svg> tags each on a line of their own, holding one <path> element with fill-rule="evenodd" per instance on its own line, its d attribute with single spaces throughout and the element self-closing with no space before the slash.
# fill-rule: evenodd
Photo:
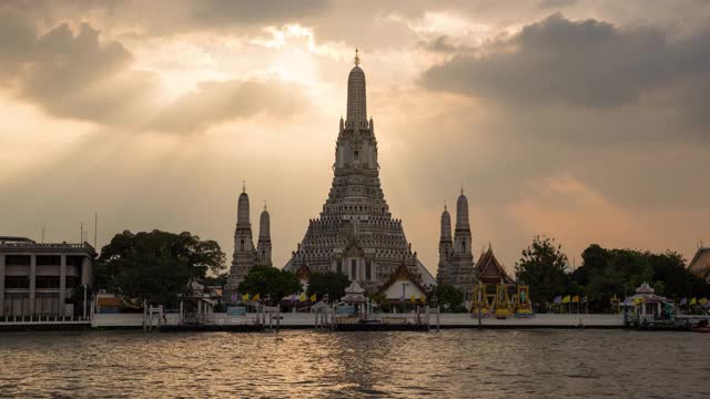
<svg viewBox="0 0 710 399">
<path fill-rule="evenodd" d="M 375 291 L 404 263 L 423 287 L 436 285 L 412 250 L 402 221 L 392 217 L 385 201 L 375 125 L 367 117 L 365 72 L 357 52 L 347 79 L 346 109 L 335 145 L 331 192 L 284 267 L 294 273 L 303 265 L 314 273 L 339 272 Z"/>
</svg>

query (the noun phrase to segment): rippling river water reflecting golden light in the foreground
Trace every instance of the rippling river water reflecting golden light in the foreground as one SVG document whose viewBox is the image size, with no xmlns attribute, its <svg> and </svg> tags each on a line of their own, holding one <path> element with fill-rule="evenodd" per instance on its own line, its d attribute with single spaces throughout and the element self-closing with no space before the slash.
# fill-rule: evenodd
<svg viewBox="0 0 710 399">
<path fill-rule="evenodd" d="M 690 332 L 0 335 L 0 397 L 708 397 L 708 376 Z"/>
</svg>

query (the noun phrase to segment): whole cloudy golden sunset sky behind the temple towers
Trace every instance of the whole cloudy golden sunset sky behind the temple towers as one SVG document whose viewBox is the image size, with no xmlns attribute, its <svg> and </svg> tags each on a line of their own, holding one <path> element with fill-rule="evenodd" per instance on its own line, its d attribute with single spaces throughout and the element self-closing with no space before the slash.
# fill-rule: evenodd
<svg viewBox="0 0 710 399">
<path fill-rule="evenodd" d="M 0 235 L 187 231 L 231 258 L 243 181 L 284 265 L 332 182 L 355 48 L 381 181 L 432 272 L 536 235 L 710 243 L 710 2 L 0 0 Z"/>
</svg>

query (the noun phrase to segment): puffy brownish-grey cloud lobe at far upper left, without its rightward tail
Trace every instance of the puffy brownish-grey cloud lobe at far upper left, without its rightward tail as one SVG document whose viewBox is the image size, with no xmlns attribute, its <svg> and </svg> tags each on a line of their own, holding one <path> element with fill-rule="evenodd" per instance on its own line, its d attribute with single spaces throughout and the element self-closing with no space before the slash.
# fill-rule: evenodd
<svg viewBox="0 0 710 399">
<path fill-rule="evenodd" d="M 38 35 L 34 27 L 0 14 L 0 76 L 27 101 L 61 117 L 121 123 L 136 114 L 154 85 L 149 72 L 131 71 L 132 57 L 99 31 L 61 24 Z"/>
</svg>

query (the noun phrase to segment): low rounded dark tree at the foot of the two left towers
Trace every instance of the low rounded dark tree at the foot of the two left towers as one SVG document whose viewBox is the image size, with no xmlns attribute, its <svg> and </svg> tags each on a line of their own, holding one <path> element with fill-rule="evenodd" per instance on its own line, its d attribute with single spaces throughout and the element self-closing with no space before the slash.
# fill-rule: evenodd
<svg viewBox="0 0 710 399">
<path fill-rule="evenodd" d="M 237 289 L 242 294 L 258 294 L 262 298 L 270 297 L 272 301 L 278 301 L 286 295 L 298 293 L 301 282 L 288 270 L 271 266 L 254 266 Z"/>
</svg>

